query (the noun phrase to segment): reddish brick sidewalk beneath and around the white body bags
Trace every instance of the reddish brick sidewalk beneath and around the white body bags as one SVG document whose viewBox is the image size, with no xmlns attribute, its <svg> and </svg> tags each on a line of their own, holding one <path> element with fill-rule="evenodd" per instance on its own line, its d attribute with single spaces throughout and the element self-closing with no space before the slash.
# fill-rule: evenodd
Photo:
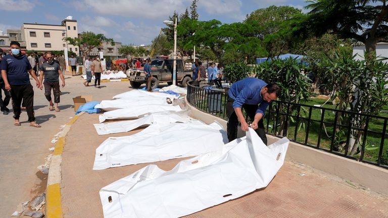
<svg viewBox="0 0 388 218">
<path fill-rule="evenodd" d="M 93 171 L 95 149 L 105 139 L 141 131 L 99 136 L 94 123 L 98 115 L 84 114 L 66 137 L 61 183 L 65 218 L 103 217 L 99 190 L 149 164 Z M 170 170 L 180 160 L 155 164 Z M 187 217 L 388 217 L 388 198 L 286 161 L 268 187 Z"/>
</svg>

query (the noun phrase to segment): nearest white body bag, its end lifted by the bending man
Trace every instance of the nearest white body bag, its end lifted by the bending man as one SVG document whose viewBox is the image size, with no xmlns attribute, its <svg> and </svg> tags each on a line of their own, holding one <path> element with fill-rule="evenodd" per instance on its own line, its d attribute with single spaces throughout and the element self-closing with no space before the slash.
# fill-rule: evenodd
<svg viewBox="0 0 388 218">
<path fill-rule="evenodd" d="M 180 217 L 266 187 L 283 165 L 288 139 L 266 147 L 250 128 L 238 140 L 171 171 L 149 165 L 102 188 L 104 217 Z"/>
</svg>

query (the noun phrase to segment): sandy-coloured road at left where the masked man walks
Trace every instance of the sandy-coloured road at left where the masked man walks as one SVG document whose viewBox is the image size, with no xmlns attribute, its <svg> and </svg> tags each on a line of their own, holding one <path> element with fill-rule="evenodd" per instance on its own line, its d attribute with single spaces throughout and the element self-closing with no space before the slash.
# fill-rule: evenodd
<svg viewBox="0 0 388 218">
<path fill-rule="evenodd" d="M 67 72 L 68 73 L 68 72 Z M 44 91 L 34 86 L 34 108 L 36 122 L 42 128 L 29 127 L 27 113 L 22 112 L 22 126 L 14 126 L 13 113 L 0 114 L 0 211 L 1 217 L 10 217 L 21 202 L 31 200 L 44 192 L 47 175 L 41 174 L 37 167 L 44 163 L 54 135 L 74 117 L 73 97 L 93 95 L 93 100 L 110 99 L 113 95 L 129 91 L 129 82 L 102 83 L 102 88 L 85 87 L 80 76 L 65 76 L 66 86 L 61 88 L 61 112 L 49 111 L 49 102 Z M 31 80 L 32 84 L 35 84 Z M 12 108 L 11 103 L 8 106 Z"/>
</svg>

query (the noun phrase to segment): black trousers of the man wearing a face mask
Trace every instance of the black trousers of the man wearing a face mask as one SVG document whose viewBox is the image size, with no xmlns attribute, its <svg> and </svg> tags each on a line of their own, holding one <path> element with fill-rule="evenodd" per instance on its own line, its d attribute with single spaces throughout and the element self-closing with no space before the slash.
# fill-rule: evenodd
<svg viewBox="0 0 388 218">
<path fill-rule="evenodd" d="M 20 104 L 26 106 L 28 122 L 35 121 L 34 113 L 34 90 L 31 84 L 27 85 L 11 85 L 12 108 L 14 109 L 14 118 L 20 118 Z"/>
</svg>

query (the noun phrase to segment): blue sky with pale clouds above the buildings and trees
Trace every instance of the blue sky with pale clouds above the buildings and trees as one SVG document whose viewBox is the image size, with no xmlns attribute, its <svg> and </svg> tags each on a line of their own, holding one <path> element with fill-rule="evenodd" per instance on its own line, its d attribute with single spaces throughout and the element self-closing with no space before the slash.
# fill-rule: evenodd
<svg viewBox="0 0 388 218">
<path fill-rule="evenodd" d="M 303 9 L 305 0 L 199 0 L 199 20 L 241 22 L 247 14 L 271 5 Z M 174 11 L 190 12 L 192 0 L 0 0 L 0 30 L 20 29 L 23 23 L 56 24 L 67 16 L 78 32 L 104 33 L 123 44 L 150 44 Z"/>
</svg>

